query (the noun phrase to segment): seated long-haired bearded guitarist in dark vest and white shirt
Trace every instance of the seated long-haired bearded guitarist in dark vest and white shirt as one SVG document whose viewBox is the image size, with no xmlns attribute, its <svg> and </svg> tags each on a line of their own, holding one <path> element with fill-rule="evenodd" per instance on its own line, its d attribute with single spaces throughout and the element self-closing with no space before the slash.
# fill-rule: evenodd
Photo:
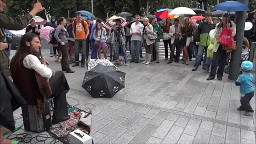
<svg viewBox="0 0 256 144">
<path fill-rule="evenodd" d="M 47 68 L 40 52 L 39 36 L 33 33 L 23 35 L 20 47 L 11 60 L 10 69 L 13 83 L 21 92 L 28 105 L 39 106 L 42 102 L 40 82 L 35 75 L 49 79 L 52 91 L 50 97 L 54 98 L 54 115 L 52 124 L 70 119 L 67 109 L 66 91 L 70 87 L 63 72 L 54 72 Z"/>
</svg>

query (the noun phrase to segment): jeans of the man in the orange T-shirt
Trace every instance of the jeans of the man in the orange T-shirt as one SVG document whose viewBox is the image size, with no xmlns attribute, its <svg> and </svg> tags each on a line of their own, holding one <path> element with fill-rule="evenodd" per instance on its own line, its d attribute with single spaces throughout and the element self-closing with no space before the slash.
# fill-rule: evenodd
<svg viewBox="0 0 256 144">
<path fill-rule="evenodd" d="M 85 49 L 86 49 L 86 40 L 85 39 L 76 39 L 75 40 L 75 61 L 79 63 L 79 49 L 81 48 L 82 59 L 81 64 L 85 64 Z"/>
</svg>

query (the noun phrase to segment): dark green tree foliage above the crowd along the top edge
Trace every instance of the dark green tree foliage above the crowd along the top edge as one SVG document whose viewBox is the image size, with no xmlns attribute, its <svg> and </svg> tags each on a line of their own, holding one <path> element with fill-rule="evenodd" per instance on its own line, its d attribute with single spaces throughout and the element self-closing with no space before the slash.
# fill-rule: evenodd
<svg viewBox="0 0 256 144">
<path fill-rule="evenodd" d="M 87 10 L 91 12 L 91 0 L 39 0 L 46 8 L 51 16 L 68 17 L 68 10 L 70 17 L 77 10 Z M 147 14 L 147 1 L 149 6 L 149 13 L 154 14 L 160 8 L 202 8 L 204 2 L 204 9 L 210 11 L 211 8 L 217 4 L 217 0 L 93 0 L 93 11 L 96 17 L 105 19 L 107 16 L 116 15 L 122 11 L 129 12 L 133 15 Z M 224 2 L 226 0 L 219 0 Z M 28 13 L 35 0 L 8 0 L 8 8 L 6 13 L 8 15 L 23 15 Z M 248 6 L 251 10 L 256 9 L 256 0 L 249 0 Z M 45 12 L 41 12 L 39 16 L 46 18 Z"/>
</svg>

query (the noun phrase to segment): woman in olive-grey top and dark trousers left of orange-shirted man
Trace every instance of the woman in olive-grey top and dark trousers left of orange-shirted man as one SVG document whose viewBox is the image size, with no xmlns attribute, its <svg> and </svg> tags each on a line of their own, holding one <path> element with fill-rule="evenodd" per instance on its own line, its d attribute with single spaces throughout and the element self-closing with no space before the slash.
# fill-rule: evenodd
<svg viewBox="0 0 256 144">
<path fill-rule="evenodd" d="M 55 29 L 54 38 L 56 38 L 58 42 L 58 47 L 62 52 L 62 71 L 66 71 L 67 73 L 74 73 L 75 71 L 70 69 L 70 61 L 69 61 L 69 53 L 68 53 L 68 38 L 69 33 L 65 29 L 66 19 L 64 17 L 60 17 L 58 19 L 59 26 Z"/>
</svg>

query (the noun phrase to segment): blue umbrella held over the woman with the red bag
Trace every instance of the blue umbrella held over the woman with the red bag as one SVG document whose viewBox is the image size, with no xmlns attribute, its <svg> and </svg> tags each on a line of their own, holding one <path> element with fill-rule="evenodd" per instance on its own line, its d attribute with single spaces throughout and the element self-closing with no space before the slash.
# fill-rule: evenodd
<svg viewBox="0 0 256 144">
<path fill-rule="evenodd" d="M 247 5 L 237 2 L 237 1 L 225 1 L 220 4 L 215 5 L 212 10 L 222 10 L 226 12 L 236 12 L 236 11 L 250 11 Z"/>
</svg>

